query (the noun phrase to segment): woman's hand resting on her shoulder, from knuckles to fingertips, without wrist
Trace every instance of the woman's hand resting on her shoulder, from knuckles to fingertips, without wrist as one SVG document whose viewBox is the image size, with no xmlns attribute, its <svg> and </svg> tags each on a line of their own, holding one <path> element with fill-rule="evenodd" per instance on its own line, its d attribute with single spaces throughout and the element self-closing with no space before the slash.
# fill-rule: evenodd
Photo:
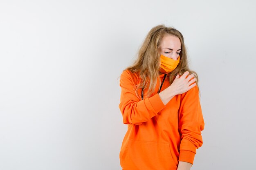
<svg viewBox="0 0 256 170">
<path fill-rule="evenodd" d="M 170 86 L 170 88 L 173 89 L 173 93 L 175 95 L 180 95 L 182 93 L 185 93 L 196 85 L 194 83 L 196 80 L 195 75 L 191 74 L 187 76 L 188 74 L 189 74 L 189 71 L 186 71 L 182 76 L 180 76 L 179 74 L 176 75 L 175 79 L 173 80 L 173 83 Z M 190 84 L 192 85 L 189 86 Z"/>
</svg>

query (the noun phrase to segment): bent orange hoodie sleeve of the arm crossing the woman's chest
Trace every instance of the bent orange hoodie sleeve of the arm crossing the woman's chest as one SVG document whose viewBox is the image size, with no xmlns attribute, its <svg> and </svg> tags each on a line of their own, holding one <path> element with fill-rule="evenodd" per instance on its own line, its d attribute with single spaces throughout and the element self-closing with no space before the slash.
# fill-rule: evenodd
<svg viewBox="0 0 256 170">
<path fill-rule="evenodd" d="M 123 115 L 124 124 L 140 125 L 157 115 L 165 105 L 158 93 L 152 97 L 140 100 L 135 94 L 135 84 L 132 80 L 128 71 L 124 71 L 121 74 L 119 109 Z"/>
</svg>

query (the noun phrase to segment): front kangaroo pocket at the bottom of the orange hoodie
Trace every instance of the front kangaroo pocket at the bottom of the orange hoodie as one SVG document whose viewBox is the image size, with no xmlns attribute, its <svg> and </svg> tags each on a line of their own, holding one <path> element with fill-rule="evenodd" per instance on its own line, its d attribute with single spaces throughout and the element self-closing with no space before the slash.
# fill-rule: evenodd
<svg viewBox="0 0 256 170">
<path fill-rule="evenodd" d="M 127 170 L 177 170 L 169 143 L 129 139 L 121 159 L 122 168 Z"/>
</svg>

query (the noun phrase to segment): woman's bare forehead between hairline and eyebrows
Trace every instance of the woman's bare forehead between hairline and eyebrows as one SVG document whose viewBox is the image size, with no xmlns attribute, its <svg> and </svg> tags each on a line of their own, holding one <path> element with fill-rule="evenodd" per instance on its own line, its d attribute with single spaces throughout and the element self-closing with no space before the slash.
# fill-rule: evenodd
<svg viewBox="0 0 256 170">
<path fill-rule="evenodd" d="M 160 46 L 162 49 L 180 49 L 181 43 L 180 39 L 174 35 L 164 35 L 164 37 L 162 38 L 162 42 L 160 43 Z"/>
</svg>

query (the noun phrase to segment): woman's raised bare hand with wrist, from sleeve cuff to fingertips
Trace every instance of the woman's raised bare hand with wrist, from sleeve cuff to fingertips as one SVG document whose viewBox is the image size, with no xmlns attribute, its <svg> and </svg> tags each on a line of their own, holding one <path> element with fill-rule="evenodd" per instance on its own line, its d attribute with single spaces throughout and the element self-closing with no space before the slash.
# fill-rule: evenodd
<svg viewBox="0 0 256 170">
<path fill-rule="evenodd" d="M 162 102 L 164 103 L 164 105 L 166 105 L 175 95 L 185 93 L 186 91 L 189 91 L 189 89 L 193 88 L 196 85 L 194 83 L 195 82 L 194 75 L 191 74 L 188 77 L 186 77 L 188 74 L 189 74 L 189 71 L 186 71 L 182 76 L 177 75 L 173 80 L 173 83 L 171 84 L 171 86 L 167 87 L 166 89 L 164 89 L 162 92 L 159 93 L 159 96 L 162 99 Z M 192 85 L 189 86 L 190 84 Z"/>
</svg>

